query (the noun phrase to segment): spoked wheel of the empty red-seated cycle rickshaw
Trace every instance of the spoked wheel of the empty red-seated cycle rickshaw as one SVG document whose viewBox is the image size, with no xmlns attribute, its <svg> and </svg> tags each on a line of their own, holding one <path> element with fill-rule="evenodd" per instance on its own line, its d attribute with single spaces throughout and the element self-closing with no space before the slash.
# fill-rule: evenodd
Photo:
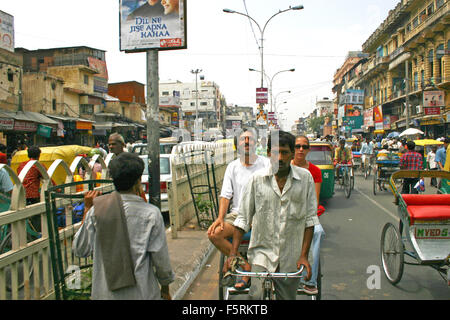
<svg viewBox="0 0 450 320">
<path fill-rule="evenodd" d="M 392 223 L 386 223 L 381 233 L 381 263 L 388 281 L 397 284 L 403 275 L 404 248 L 400 232 Z"/>
</svg>

